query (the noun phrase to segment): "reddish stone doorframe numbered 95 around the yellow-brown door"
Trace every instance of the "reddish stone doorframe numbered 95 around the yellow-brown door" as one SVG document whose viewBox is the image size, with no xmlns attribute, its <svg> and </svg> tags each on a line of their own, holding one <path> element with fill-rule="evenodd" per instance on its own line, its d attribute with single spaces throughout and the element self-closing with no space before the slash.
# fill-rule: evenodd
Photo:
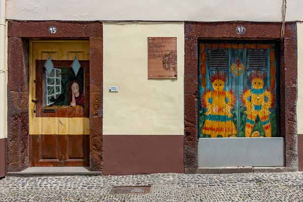
<svg viewBox="0 0 303 202">
<path fill-rule="evenodd" d="M 57 33 L 48 33 L 49 26 L 56 26 Z M 89 39 L 89 161 L 91 170 L 102 170 L 102 22 L 11 20 L 8 22 L 8 171 L 22 171 L 29 165 L 28 64 L 30 39 Z"/>
</svg>

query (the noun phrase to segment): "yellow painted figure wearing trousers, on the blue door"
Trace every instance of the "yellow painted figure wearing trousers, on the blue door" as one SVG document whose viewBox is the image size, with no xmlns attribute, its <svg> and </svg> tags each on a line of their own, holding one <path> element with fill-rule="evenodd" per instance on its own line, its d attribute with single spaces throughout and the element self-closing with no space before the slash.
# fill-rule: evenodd
<svg viewBox="0 0 303 202">
<path fill-rule="evenodd" d="M 271 137 L 270 111 L 274 104 L 274 96 L 270 90 L 263 89 L 265 74 L 260 72 L 252 72 L 250 75 L 251 89 L 244 89 L 242 93 L 242 103 L 246 107 L 247 114 L 245 124 L 245 137 L 255 137 L 251 135 L 254 129 L 257 116 L 261 120 L 261 124 L 266 137 Z M 259 131 L 260 132 L 260 131 Z M 260 135 L 259 135 L 260 136 Z"/>
</svg>

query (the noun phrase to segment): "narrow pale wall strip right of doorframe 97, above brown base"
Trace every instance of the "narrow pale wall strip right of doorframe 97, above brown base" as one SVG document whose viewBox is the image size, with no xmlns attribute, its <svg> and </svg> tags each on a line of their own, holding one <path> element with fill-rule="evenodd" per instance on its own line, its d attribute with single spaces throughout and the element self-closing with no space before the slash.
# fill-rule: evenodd
<svg viewBox="0 0 303 202">
<path fill-rule="evenodd" d="M 298 100 L 297 132 L 303 134 L 303 23 L 297 23 L 298 36 Z"/>
</svg>

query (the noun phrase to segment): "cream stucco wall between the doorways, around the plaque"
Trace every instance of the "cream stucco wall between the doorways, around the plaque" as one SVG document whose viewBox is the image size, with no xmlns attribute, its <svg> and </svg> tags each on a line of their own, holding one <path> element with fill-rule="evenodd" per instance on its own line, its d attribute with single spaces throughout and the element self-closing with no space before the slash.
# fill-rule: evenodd
<svg viewBox="0 0 303 202">
<path fill-rule="evenodd" d="M 177 37 L 178 79 L 147 79 L 148 36 Z M 104 23 L 103 37 L 103 134 L 183 135 L 184 24 Z"/>
</svg>

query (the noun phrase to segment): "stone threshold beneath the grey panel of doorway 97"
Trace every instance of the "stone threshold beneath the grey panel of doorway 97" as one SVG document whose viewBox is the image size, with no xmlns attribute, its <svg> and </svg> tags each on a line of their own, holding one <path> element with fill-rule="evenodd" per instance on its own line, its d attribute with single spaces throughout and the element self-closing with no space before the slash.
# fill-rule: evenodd
<svg viewBox="0 0 303 202">
<path fill-rule="evenodd" d="M 197 174 L 228 174 L 228 173 L 279 173 L 279 172 L 292 172 L 295 169 L 287 167 L 200 167 L 195 172 Z M 192 173 L 192 171 L 185 171 Z"/>
</svg>

